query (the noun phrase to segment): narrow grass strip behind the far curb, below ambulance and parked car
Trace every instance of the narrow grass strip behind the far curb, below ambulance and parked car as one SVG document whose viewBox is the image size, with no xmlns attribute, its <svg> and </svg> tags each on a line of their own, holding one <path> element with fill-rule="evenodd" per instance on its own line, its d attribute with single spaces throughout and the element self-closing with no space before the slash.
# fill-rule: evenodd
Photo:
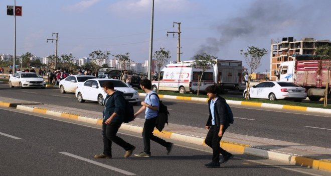
<svg viewBox="0 0 331 176">
<path fill-rule="evenodd" d="M 139 93 L 145 93 L 142 90 L 137 90 Z M 158 94 L 160 95 L 170 95 L 170 96 L 181 96 L 181 97 L 199 97 L 199 98 L 208 98 L 206 95 L 197 95 L 197 94 L 180 94 L 176 92 L 170 91 L 159 91 Z M 222 95 L 221 95 L 222 96 Z M 234 101 L 247 101 L 241 97 L 228 97 L 222 96 L 226 100 L 234 100 Z M 287 101 L 287 100 L 277 100 L 277 101 L 270 101 L 265 99 L 249 99 L 247 102 L 257 102 L 257 103 L 269 103 L 269 104 L 277 104 L 277 105 L 291 105 L 291 106 L 303 106 L 303 107 L 311 107 L 311 108 L 323 108 L 323 102 L 294 102 L 294 101 Z M 328 104 L 325 109 L 331 109 L 331 101 L 328 101 Z"/>
</svg>

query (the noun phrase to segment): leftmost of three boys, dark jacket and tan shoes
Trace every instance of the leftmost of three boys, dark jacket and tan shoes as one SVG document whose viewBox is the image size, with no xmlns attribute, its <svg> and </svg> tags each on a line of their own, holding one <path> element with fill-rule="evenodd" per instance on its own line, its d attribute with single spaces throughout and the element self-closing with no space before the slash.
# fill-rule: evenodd
<svg viewBox="0 0 331 176">
<path fill-rule="evenodd" d="M 115 91 L 114 84 L 111 81 L 105 81 L 102 89 L 107 94 L 103 102 L 105 108 L 102 112 L 103 153 L 95 155 L 94 158 L 111 158 L 112 142 L 124 148 L 124 158 L 127 158 L 131 156 L 135 147 L 116 136 L 119 127 L 123 123 L 126 108 L 123 93 Z"/>
</svg>

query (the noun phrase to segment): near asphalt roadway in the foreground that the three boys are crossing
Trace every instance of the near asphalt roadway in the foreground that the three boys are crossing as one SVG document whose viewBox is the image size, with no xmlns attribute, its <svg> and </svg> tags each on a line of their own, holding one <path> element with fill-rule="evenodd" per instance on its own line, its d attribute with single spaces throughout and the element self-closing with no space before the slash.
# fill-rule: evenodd
<svg viewBox="0 0 331 176">
<path fill-rule="evenodd" d="M 3 108 L 0 114 L 0 175 L 327 175 L 245 155 L 236 155 L 221 168 L 206 168 L 210 150 L 178 143 L 171 155 L 152 143 L 152 157 L 126 159 L 124 150 L 114 144 L 112 159 L 94 159 L 103 149 L 100 126 Z M 141 137 L 119 136 L 135 145 L 135 152 L 142 151 Z"/>
</svg>

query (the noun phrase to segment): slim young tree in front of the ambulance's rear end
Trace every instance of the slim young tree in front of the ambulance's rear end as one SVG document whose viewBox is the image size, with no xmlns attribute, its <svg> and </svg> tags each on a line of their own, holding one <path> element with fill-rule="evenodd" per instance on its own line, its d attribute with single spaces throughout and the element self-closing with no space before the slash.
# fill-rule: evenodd
<svg viewBox="0 0 331 176">
<path fill-rule="evenodd" d="M 201 75 L 198 79 L 198 96 L 199 96 L 199 89 L 201 79 L 204 75 L 204 72 L 208 69 L 213 68 L 213 66 L 217 63 L 217 57 L 208 55 L 207 53 L 197 54 L 194 56 L 195 62 L 192 64 L 193 68 L 201 69 Z"/>
</svg>

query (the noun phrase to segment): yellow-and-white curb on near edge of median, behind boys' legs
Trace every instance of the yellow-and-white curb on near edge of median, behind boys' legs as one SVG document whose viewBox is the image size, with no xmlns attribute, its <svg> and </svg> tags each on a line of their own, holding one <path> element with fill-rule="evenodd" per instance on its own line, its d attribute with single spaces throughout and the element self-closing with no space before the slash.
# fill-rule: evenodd
<svg viewBox="0 0 331 176">
<path fill-rule="evenodd" d="M 0 106 L 10 107 L 10 103 L 2 102 L 0 103 Z M 63 113 L 63 112 L 56 112 L 51 111 L 47 109 L 39 109 L 39 108 L 32 108 L 32 107 L 26 107 L 22 105 L 18 105 L 17 109 L 28 111 L 28 112 L 34 112 L 38 114 L 46 114 L 51 115 L 55 117 L 60 117 L 64 119 L 71 119 L 81 122 L 86 122 L 94 125 L 101 125 L 102 119 L 93 119 L 88 118 L 76 114 L 70 114 L 70 113 Z M 131 131 L 135 133 L 141 133 L 142 127 L 131 125 L 131 124 L 125 124 L 123 123 L 120 127 L 122 130 Z M 192 135 L 186 135 L 186 134 L 179 134 L 174 133 L 171 131 L 162 131 L 159 132 L 158 130 L 154 130 L 153 134 L 159 137 L 178 140 L 182 142 L 187 142 L 191 144 L 201 145 L 201 146 L 207 146 L 204 142 L 204 138 L 198 137 L 198 136 L 192 136 Z M 309 168 L 324 170 L 324 171 L 331 171 L 331 161 L 328 160 L 319 160 L 319 159 L 313 159 L 305 156 L 297 156 L 290 153 L 281 153 L 277 151 L 267 150 L 263 148 L 256 148 L 254 146 L 249 146 L 245 144 L 238 144 L 233 143 L 229 141 L 221 141 L 221 146 L 225 150 L 228 150 L 230 152 L 235 152 L 239 154 L 247 154 L 247 155 L 254 155 L 262 158 L 267 158 L 271 160 L 277 160 L 281 162 L 285 162 L 292 165 L 300 165 L 300 166 L 306 166 Z"/>
</svg>

